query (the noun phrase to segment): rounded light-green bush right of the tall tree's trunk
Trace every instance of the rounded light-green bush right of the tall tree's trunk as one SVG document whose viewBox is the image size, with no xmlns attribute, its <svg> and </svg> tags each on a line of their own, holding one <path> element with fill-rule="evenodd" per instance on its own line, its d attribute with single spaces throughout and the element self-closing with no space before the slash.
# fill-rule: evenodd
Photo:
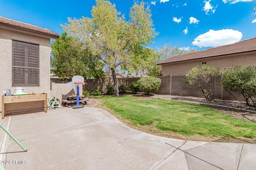
<svg viewBox="0 0 256 170">
<path fill-rule="evenodd" d="M 140 91 L 149 95 L 150 92 L 158 91 L 161 86 L 161 79 L 155 77 L 143 77 L 138 80 L 140 84 Z"/>
</svg>

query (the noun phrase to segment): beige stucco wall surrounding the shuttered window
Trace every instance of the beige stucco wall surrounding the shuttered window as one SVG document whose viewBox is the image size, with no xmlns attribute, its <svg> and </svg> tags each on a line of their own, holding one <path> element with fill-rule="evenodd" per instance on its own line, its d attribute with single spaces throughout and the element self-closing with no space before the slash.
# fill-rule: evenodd
<svg viewBox="0 0 256 170">
<path fill-rule="evenodd" d="M 25 93 L 49 94 L 50 97 L 50 38 L 30 35 L 0 27 L 0 94 L 10 89 L 12 94 L 15 87 L 12 87 L 12 40 L 24 41 L 39 45 L 39 87 L 23 87 Z M 0 102 L 2 99 L 0 98 Z M 0 111 L 2 106 L 0 105 Z"/>
</svg>

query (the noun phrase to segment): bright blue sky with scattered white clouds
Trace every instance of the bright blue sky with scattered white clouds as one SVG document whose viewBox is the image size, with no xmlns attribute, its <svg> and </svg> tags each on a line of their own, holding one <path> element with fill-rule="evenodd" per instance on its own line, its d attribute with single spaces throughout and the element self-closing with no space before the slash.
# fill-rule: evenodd
<svg viewBox="0 0 256 170">
<path fill-rule="evenodd" d="M 255 37 L 256 22 L 252 23 L 255 19 L 253 4 L 239 1 L 249 0 L 144 0 L 150 4 L 154 24 L 159 32 L 153 40 L 155 43 L 149 46 L 157 49 L 164 44 L 170 44 L 200 50 Z M 126 14 L 126 17 L 134 3 L 121 0 L 110 2 L 116 4 L 117 10 Z M 93 5 L 93 0 L 0 0 L 0 16 L 62 33 L 60 24 L 67 22 L 67 17 L 91 16 Z M 173 21 L 174 17 L 177 22 Z M 190 18 L 194 22 L 189 23 Z M 188 32 L 185 34 L 186 28 Z M 209 30 L 213 31 L 208 32 Z M 195 38 L 197 42 L 193 45 Z"/>
</svg>

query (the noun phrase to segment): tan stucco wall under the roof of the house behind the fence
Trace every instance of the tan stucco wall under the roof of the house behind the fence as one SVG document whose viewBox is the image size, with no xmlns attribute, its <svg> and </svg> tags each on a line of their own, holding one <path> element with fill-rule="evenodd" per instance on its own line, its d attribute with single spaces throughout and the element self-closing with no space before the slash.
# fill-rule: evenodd
<svg viewBox="0 0 256 170">
<path fill-rule="evenodd" d="M 189 70 L 197 65 L 206 62 L 209 65 L 218 67 L 222 72 L 235 65 L 248 66 L 256 65 L 256 53 L 229 55 L 224 57 L 212 57 L 194 61 L 184 61 L 162 65 L 163 75 L 186 75 Z"/>
</svg>

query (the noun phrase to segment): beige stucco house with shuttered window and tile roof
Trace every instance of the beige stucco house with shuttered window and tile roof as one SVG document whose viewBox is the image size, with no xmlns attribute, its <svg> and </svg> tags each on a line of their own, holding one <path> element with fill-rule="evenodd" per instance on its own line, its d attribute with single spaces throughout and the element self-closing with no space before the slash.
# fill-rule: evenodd
<svg viewBox="0 0 256 170">
<path fill-rule="evenodd" d="M 14 94 L 15 87 L 50 94 L 50 39 L 58 38 L 49 29 L 0 17 L 1 95 L 6 89 Z"/>
</svg>

